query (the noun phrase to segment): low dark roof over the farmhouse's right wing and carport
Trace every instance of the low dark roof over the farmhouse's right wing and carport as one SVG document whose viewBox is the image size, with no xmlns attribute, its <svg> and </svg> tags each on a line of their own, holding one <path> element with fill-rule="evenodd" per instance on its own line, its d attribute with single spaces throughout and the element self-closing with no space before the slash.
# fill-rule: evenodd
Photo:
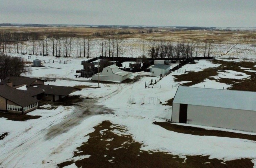
<svg viewBox="0 0 256 168">
<path fill-rule="evenodd" d="M 69 86 L 40 85 L 40 84 L 31 85 L 29 88 L 35 87 L 35 86 L 38 86 L 37 88 L 41 88 L 45 94 L 60 95 L 60 96 L 67 96 L 70 93 L 73 93 L 78 90 L 82 90 L 79 88 L 69 87 Z"/>
</svg>

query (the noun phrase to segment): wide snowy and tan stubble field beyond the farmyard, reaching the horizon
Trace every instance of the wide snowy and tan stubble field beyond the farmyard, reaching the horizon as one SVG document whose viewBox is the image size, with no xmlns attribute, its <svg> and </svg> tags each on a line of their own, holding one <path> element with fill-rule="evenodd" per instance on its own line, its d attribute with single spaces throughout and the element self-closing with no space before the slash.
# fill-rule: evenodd
<svg viewBox="0 0 256 168">
<path fill-rule="evenodd" d="M 88 58 L 98 57 L 100 55 L 109 56 L 113 52 L 116 55 L 116 42 L 114 42 L 114 48 L 112 47 L 112 39 L 114 36 L 109 36 L 107 32 L 120 33 L 124 32 L 129 34 L 120 34 L 118 38 L 122 39 L 120 44 L 120 57 L 139 57 L 141 55 L 148 55 L 148 50 L 154 41 L 155 45 L 161 44 L 177 44 L 181 42 L 192 42 L 195 46 L 198 45 L 197 56 L 203 56 L 204 43 L 210 43 L 212 46 L 210 56 L 221 56 L 222 58 L 244 58 L 253 59 L 255 52 L 256 43 L 256 32 L 254 30 L 247 31 L 220 31 L 220 30 L 177 30 L 171 28 L 152 28 L 153 32 L 148 33 L 149 28 L 127 28 L 127 29 L 117 29 L 117 28 L 89 28 L 89 27 L 0 27 L 0 33 L 5 32 L 25 32 L 32 33 L 36 32 L 41 38 L 48 39 L 48 51 L 47 53 L 52 56 L 53 52 L 56 52 L 56 45 L 59 47 L 58 43 L 61 43 L 60 55 L 64 57 L 73 58 L 83 58 L 88 56 Z M 145 33 L 140 33 L 140 32 Z M 95 36 L 98 34 L 99 36 Z M 57 36 L 60 36 L 57 38 Z M 55 38 L 54 38 L 55 37 Z M 109 38 L 110 41 L 104 42 L 102 38 Z M 89 38 L 89 42 L 87 41 Z M 52 41 L 55 40 L 55 41 Z M 60 41 L 59 41 L 60 40 Z M 103 41 L 102 41 L 103 40 Z M 53 51 L 53 44 L 55 43 L 55 49 Z M 16 43 L 16 48 L 13 43 L 7 44 L 4 47 L 4 51 L 14 53 L 19 51 L 19 53 L 32 53 L 33 41 L 23 41 Z M 44 41 L 44 45 L 46 41 Z M 70 43 L 70 44 L 69 44 Z M 87 51 L 89 43 L 89 52 Z M 107 50 L 102 44 L 107 47 Z M 34 53 L 41 55 L 46 54 L 46 49 L 44 47 L 44 52 L 42 40 L 34 41 Z M 66 45 L 66 48 L 65 48 Z M 110 49 L 109 46 L 111 45 Z M 18 47 L 18 49 L 17 49 Z M 85 48 L 85 49 L 84 49 Z M 112 51 L 113 50 L 113 51 Z M 89 54 L 88 54 L 89 53 Z M 54 53 L 56 55 L 56 53 Z M 58 53 L 59 55 L 59 49 Z M 193 56 L 195 56 L 195 49 Z M 48 58 L 47 58 L 48 59 Z"/>
</svg>

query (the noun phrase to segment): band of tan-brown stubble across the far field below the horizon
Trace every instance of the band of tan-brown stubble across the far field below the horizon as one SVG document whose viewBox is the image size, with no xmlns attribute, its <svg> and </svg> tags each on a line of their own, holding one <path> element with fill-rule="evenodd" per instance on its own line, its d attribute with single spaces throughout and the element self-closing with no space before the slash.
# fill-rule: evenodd
<svg viewBox="0 0 256 168">
<path fill-rule="evenodd" d="M 154 33 L 147 33 L 150 28 L 96 28 L 96 27 L 0 27 L 0 32 L 37 32 L 40 35 L 58 34 L 61 37 L 85 37 L 94 33 L 129 31 L 131 34 L 120 35 L 121 38 L 139 38 L 142 40 L 161 41 L 211 41 L 226 44 L 255 44 L 254 31 L 217 31 L 217 30 L 177 30 L 172 28 L 153 28 Z M 139 33 L 144 31 L 145 33 Z M 156 31 L 156 32 L 155 32 Z M 99 37 L 95 37 L 99 38 Z"/>
</svg>

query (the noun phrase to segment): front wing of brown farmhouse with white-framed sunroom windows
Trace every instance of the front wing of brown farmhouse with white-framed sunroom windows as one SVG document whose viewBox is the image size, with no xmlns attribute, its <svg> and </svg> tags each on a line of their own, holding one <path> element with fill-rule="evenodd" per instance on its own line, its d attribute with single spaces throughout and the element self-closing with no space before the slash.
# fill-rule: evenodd
<svg viewBox="0 0 256 168">
<path fill-rule="evenodd" d="M 0 85 L 0 111 L 25 114 L 38 107 L 39 100 L 8 85 Z"/>
</svg>

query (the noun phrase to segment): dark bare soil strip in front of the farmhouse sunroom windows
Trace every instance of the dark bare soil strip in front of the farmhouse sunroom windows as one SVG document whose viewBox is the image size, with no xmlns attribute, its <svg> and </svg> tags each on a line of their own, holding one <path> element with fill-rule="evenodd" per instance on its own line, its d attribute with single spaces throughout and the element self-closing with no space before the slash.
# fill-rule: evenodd
<svg viewBox="0 0 256 168">
<path fill-rule="evenodd" d="M 33 113 L 33 112 L 31 112 Z M 6 118 L 8 120 L 12 121 L 27 121 L 27 120 L 34 120 L 39 119 L 41 116 L 30 116 L 27 114 L 16 114 L 16 113 L 4 113 L 0 112 L 1 118 Z"/>
</svg>

